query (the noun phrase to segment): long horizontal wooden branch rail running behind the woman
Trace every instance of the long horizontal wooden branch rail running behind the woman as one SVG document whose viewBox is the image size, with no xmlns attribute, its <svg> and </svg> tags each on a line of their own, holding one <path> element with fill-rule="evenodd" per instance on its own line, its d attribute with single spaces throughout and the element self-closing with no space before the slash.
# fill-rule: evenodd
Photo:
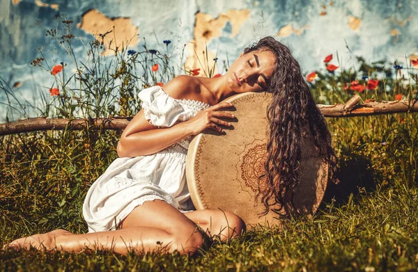
<svg viewBox="0 0 418 272">
<path fill-rule="evenodd" d="M 383 101 L 367 102 L 359 105 L 360 97 L 355 95 L 345 104 L 318 105 L 318 109 L 325 117 L 352 117 L 366 116 L 389 113 L 412 113 L 418 112 L 417 99 L 412 102 Z M 95 118 L 86 119 L 61 119 L 61 118 L 29 118 L 16 122 L 6 122 L 0 124 L 0 136 L 17 134 L 22 132 L 42 131 L 42 130 L 82 130 L 87 126 L 95 129 L 125 129 L 132 117 L 129 118 Z"/>
</svg>

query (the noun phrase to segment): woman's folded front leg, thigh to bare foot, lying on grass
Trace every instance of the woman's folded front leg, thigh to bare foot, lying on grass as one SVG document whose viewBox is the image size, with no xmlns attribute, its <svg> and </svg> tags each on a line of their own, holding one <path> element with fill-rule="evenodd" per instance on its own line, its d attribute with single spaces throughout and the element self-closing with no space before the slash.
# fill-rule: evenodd
<svg viewBox="0 0 418 272">
<path fill-rule="evenodd" d="M 17 239 L 9 247 L 79 252 L 88 249 L 113 250 L 125 254 L 129 250 L 150 252 L 166 250 L 192 254 L 203 243 L 203 234 L 196 225 L 176 208 L 161 200 L 145 202 L 136 207 L 123 221 L 121 230 L 87 234 L 38 234 Z"/>
</svg>

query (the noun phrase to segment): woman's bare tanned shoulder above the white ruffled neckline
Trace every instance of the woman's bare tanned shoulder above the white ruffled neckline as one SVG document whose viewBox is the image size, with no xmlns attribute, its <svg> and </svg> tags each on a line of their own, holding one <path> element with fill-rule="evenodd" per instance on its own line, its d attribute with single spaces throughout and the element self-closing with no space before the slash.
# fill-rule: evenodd
<svg viewBox="0 0 418 272">
<path fill-rule="evenodd" d="M 200 93 L 200 86 L 194 77 L 182 75 L 171 79 L 162 88 L 167 95 L 175 99 L 195 99 L 196 94 Z"/>
</svg>

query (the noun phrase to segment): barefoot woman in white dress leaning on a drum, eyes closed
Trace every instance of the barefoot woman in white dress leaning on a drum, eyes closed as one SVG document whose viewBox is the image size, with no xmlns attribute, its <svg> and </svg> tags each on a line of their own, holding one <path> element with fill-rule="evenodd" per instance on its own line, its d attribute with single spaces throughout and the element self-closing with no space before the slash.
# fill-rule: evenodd
<svg viewBox="0 0 418 272">
<path fill-rule="evenodd" d="M 83 212 L 89 233 L 55 230 L 8 246 L 70 252 L 103 248 L 122 254 L 164 248 L 192 254 L 202 246 L 203 232 L 222 239 L 238 237 L 245 223 L 235 214 L 189 211 L 193 207 L 185 184 L 185 159 L 191 136 L 206 129 L 224 134 L 222 127 L 231 125 L 226 120 L 233 115 L 222 111 L 231 104 L 222 100 L 261 91 L 272 93 L 273 99 L 268 107 L 270 140 L 265 162 L 269 189 L 258 197 L 266 213 L 292 207 L 301 128 L 309 124 L 316 145 L 330 163 L 331 175 L 335 155 L 300 66 L 286 46 L 267 37 L 245 49 L 222 77 L 180 76 L 164 90 L 155 86 L 141 91 L 143 109 L 123 131 L 117 149 L 120 158 L 87 193 Z"/>
</svg>

